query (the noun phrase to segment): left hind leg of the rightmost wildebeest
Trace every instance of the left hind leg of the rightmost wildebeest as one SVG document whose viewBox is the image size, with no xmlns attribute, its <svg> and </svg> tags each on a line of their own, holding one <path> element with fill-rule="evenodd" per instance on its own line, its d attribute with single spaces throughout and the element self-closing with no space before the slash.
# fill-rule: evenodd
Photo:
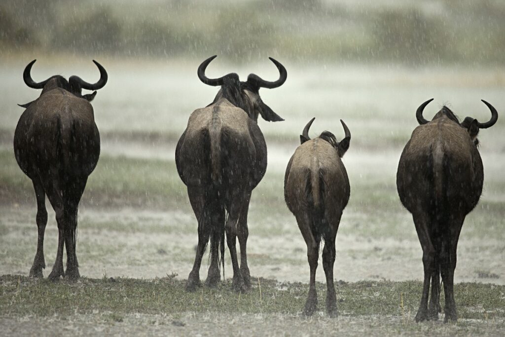
<svg viewBox="0 0 505 337">
<path fill-rule="evenodd" d="M 421 304 L 416 315 L 416 322 L 426 320 L 428 314 L 428 294 L 430 290 L 430 278 L 433 273 L 435 249 L 429 235 L 429 218 L 423 212 L 413 214 L 414 224 L 416 225 L 419 242 L 423 248 L 423 266 L 424 266 L 424 281 L 423 295 L 421 296 Z"/>
</svg>

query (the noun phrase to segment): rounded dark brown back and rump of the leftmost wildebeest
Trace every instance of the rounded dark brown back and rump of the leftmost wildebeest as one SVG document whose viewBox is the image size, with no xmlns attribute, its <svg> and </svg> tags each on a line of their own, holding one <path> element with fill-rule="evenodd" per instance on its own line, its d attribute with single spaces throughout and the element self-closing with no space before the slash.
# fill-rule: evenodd
<svg viewBox="0 0 505 337">
<path fill-rule="evenodd" d="M 49 135 L 49 136 L 48 136 Z M 28 106 L 14 135 L 16 159 L 33 177 L 49 167 L 74 176 L 88 176 L 96 166 L 100 138 L 88 101 L 57 88 L 42 94 Z M 34 159 L 32 167 L 28 159 Z"/>
</svg>

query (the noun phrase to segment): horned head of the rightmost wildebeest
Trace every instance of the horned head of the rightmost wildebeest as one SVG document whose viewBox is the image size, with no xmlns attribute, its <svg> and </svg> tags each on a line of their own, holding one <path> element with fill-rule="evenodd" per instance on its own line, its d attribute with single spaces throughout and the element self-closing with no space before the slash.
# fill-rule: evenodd
<svg viewBox="0 0 505 337">
<path fill-rule="evenodd" d="M 419 108 L 416 111 L 416 118 L 417 118 L 417 121 L 419 122 L 420 125 L 423 125 L 423 124 L 426 124 L 429 122 L 423 117 L 423 110 L 428 105 L 428 103 L 430 103 L 431 101 L 433 101 L 433 99 L 424 102 L 423 104 L 421 104 L 419 106 Z M 487 103 L 486 101 L 482 100 L 482 102 L 484 102 L 484 104 L 491 111 L 491 119 L 485 123 L 480 123 L 477 119 L 474 119 L 472 117 L 466 117 L 463 120 L 463 122 L 460 123 L 458 117 L 452 111 L 450 111 L 450 109 L 447 108 L 446 106 L 443 106 L 442 109 L 440 109 L 440 111 L 436 113 L 436 115 L 433 117 L 432 121 L 434 121 L 438 118 L 444 117 L 444 116 L 447 117 L 451 121 L 459 124 L 461 127 L 466 128 L 468 130 L 468 133 L 470 134 L 470 137 L 475 142 L 475 145 L 477 145 L 478 140 L 476 137 L 477 137 L 477 134 L 479 133 L 479 129 L 487 129 L 488 127 L 493 126 L 494 123 L 496 123 L 496 121 L 498 120 L 498 112 L 496 111 L 496 109 L 494 109 L 494 107 L 492 105 L 490 105 L 489 103 Z"/>
</svg>

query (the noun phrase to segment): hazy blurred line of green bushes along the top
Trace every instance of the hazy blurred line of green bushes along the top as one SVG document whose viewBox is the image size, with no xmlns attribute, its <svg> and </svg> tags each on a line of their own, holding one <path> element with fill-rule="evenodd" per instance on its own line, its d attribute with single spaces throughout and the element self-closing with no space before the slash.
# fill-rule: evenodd
<svg viewBox="0 0 505 337">
<path fill-rule="evenodd" d="M 378 8 L 323 0 L 3 0 L 0 51 L 138 58 L 219 54 L 233 62 L 282 55 L 307 63 L 504 63 L 505 2 L 435 4 Z"/>
</svg>

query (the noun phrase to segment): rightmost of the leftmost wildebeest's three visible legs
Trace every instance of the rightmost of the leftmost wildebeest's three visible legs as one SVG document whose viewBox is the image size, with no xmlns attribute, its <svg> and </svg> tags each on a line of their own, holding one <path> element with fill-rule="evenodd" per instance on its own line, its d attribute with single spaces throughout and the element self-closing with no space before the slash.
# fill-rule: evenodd
<svg viewBox="0 0 505 337">
<path fill-rule="evenodd" d="M 77 239 L 77 210 L 81 201 L 82 193 L 86 187 L 87 177 L 75 178 L 67 184 L 64 193 L 64 216 L 66 223 L 65 247 L 67 249 L 67 270 L 65 276 L 70 280 L 80 277 L 79 263 L 75 252 Z"/>
</svg>

